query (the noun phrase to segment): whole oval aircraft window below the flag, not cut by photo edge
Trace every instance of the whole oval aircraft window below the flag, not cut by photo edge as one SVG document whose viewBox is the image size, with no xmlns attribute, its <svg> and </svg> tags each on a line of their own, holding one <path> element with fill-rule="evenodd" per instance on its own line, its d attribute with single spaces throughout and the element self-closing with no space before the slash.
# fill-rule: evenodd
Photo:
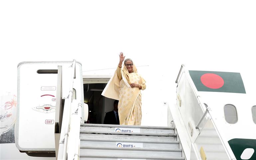
<svg viewBox="0 0 256 160">
<path fill-rule="evenodd" d="M 234 105 L 225 105 L 224 107 L 225 119 L 228 123 L 234 124 L 237 122 L 237 112 Z"/>
</svg>

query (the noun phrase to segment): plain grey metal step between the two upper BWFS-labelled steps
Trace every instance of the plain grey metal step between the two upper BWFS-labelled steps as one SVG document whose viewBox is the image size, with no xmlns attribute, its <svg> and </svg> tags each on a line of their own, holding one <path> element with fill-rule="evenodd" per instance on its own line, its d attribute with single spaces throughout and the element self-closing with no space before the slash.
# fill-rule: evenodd
<svg viewBox="0 0 256 160">
<path fill-rule="evenodd" d="M 125 135 L 125 134 L 91 134 L 80 133 L 80 138 L 90 139 L 118 139 L 118 140 L 160 140 L 160 141 L 176 141 L 177 134 L 169 134 L 168 136 L 148 136 L 148 135 Z"/>
</svg>

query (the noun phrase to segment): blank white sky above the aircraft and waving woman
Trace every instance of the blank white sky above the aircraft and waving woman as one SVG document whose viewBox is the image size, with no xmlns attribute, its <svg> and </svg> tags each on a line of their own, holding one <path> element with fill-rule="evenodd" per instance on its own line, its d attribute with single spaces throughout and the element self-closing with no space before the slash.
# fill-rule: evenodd
<svg viewBox="0 0 256 160">
<path fill-rule="evenodd" d="M 22 61 L 76 59 L 85 71 L 116 67 L 120 51 L 170 78 L 173 93 L 181 64 L 255 77 L 255 8 L 222 0 L 1 1 L 1 94 L 17 91 Z"/>
</svg>

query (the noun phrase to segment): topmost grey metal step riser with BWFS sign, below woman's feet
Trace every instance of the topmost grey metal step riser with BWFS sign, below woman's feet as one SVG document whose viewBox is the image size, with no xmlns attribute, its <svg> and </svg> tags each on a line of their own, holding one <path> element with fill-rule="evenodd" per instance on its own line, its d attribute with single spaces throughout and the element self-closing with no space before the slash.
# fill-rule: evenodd
<svg viewBox="0 0 256 160">
<path fill-rule="evenodd" d="M 129 126 L 111 124 L 82 124 L 81 131 L 133 132 L 133 133 L 174 133 L 174 127 Z"/>
</svg>

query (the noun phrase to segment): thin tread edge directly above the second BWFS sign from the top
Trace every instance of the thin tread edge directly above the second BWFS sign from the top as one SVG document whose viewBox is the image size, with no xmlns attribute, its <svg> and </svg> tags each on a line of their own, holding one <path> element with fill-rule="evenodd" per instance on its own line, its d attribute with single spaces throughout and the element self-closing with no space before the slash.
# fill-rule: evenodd
<svg viewBox="0 0 256 160">
<path fill-rule="evenodd" d="M 127 139 L 97 139 L 97 138 L 80 138 L 81 141 L 106 141 L 106 142 L 140 142 L 140 143 L 164 143 L 164 144 L 179 144 L 179 141 L 163 141 L 163 140 L 127 140 Z"/>
</svg>

